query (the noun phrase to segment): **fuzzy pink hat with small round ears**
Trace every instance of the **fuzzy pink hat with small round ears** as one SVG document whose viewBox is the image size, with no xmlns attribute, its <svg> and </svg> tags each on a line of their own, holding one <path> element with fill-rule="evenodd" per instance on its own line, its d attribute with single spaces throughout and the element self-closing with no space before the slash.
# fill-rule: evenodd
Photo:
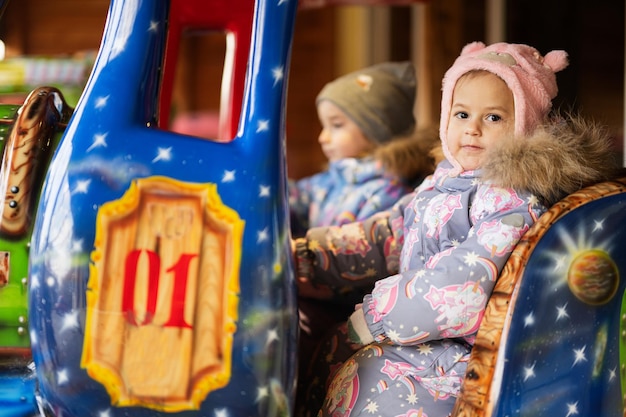
<svg viewBox="0 0 626 417">
<path fill-rule="evenodd" d="M 455 168 L 451 175 L 462 171 L 461 165 L 450 154 L 447 134 L 454 86 L 463 74 L 485 70 L 504 80 L 513 92 L 515 134 L 524 136 L 541 124 L 550 112 L 552 99 L 558 92 L 555 72 L 567 65 L 565 51 L 551 51 L 542 57 L 539 51 L 528 45 L 467 44 L 443 77 L 439 135 L 443 152 Z"/>
</svg>

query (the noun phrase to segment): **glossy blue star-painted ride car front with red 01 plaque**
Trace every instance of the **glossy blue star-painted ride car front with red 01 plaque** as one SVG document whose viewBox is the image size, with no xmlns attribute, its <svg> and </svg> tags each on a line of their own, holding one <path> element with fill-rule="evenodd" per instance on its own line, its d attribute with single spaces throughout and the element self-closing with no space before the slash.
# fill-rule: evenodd
<svg viewBox="0 0 626 417">
<path fill-rule="evenodd" d="M 32 363 L 3 368 L 23 382 L 3 417 L 289 414 L 297 311 L 282 127 L 296 8 L 111 2 L 40 187 Z M 228 141 L 159 125 L 188 27 L 228 33 Z"/>
</svg>

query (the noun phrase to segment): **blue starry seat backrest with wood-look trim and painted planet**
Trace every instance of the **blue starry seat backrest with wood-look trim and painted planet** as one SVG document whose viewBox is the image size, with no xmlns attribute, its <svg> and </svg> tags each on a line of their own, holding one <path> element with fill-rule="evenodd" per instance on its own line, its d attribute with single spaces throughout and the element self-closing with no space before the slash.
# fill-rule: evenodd
<svg viewBox="0 0 626 417">
<path fill-rule="evenodd" d="M 626 178 L 539 218 L 487 304 L 453 416 L 624 415 L 625 241 Z"/>
</svg>

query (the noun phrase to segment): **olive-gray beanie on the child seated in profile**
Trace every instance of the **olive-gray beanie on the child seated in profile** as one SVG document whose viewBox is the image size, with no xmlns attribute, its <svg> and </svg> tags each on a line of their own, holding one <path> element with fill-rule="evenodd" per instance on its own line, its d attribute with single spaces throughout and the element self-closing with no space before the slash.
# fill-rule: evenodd
<svg viewBox="0 0 626 417">
<path fill-rule="evenodd" d="M 368 139 L 385 143 L 413 131 L 416 84 L 413 64 L 385 62 L 331 81 L 316 103 L 333 102 Z"/>
</svg>

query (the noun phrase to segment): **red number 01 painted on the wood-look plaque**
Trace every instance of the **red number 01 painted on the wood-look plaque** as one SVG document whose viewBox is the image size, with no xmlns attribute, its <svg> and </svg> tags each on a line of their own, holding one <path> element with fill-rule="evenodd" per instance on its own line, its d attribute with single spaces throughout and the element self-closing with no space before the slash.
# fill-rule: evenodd
<svg viewBox="0 0 626 417">
<path fill-rule="evenodd" d="M 142 253 L 148 256 L 148 300 L 146 315 L 141 323 L 137 322 L 135 314 L 135 285 L 137 282 L 137 264 Z M 170 317 L 164 324 L 165 327 L 191 328 L 185 321 L 185 294 L 187 292 L 187 279 L 189 277 L 189 263 L 197 255 L 182 254 L 178 262 L 168 268 L 166 272 L 174 273 L 174 291 Z M 159 279 L 161 270 L 161 258 L 151 250 L 135 249 L 126 257 L 124 268 L 124 293 L 122 295 L 122 311 L 126 320 L 135 326 L 145 326 L 152 323 L 156 315 L 157 297 L 159 294 Z"/>
</svg>

